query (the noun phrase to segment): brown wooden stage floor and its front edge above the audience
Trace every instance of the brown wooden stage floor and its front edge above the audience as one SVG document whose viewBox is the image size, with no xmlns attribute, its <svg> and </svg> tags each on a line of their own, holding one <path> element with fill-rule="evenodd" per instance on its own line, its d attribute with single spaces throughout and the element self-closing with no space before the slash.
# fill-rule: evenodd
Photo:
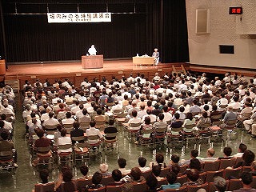
<svg viewBox="0 0 256 192">
<path fill-rule="evenodd" d="M 110 80 L 112 76 L 116 78 L 126 78 L 130 74 L 145 74 L 150 79 L 154 77 L 154 74 L 158 72 L 160 75 L 165 73 L 171 73 L 173 66 L 179 69 L 183 65 L 186 70 L 198 71 L 198 72 L 210 72 L 216 74 L 224 74 L 232 71 L 238 74 L 244 74 L 249 77 L 253 77 L 256 74 L 256 70 L 239 69 L 220 66 L 202 66 L 194 65 L 187 62 L 175 62 L 175 63 L 159 63 L 158 66 L 134 66 L 131 59 L 120 60 L 104 60 L 103 68 L 99 69 L 82 69 L 81 62 L 47 62 L 41 64 L 24 63 L 19 65 L 8 65 L 6 70 L 5 80 L 15 81 L 18 80 L 20 86 L 22 86 L 25 80 L 35 82 L 35 79 L 40 79 L 44 82 L 47 78 L 50 82 L 54 82 L 54 79 L 68 78 L 70 82 L 74 82 L 75 86 L 80 85 L 84 78 L 88 78 L 89 81 L 93 78 L 101 80 L 102 77 Z"/>
</svg>

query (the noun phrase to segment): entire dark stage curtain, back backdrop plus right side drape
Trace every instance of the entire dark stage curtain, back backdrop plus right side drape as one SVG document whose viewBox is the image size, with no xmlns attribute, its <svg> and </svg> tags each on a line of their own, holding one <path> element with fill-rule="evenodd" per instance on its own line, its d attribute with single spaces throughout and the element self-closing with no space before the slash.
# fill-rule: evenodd
<svg viewBox="0 0 256 192">
<path fill-rule="evenodd" d="M 188 62 L 186 0 L 123 0 L 120 4 L 113 0 L 109 11 L 133 12 L 134 4 L 130 2 L 136 2 L 136 14 L 112 14 L 110 23 L 65 24 L 49 24 L 46 14 L 16 15 L 14 4 L 3 4 L 7 62 L 79 60 L 91 44 L 104 58 L 152 54 L 154 47 L 158 47 L 161 62 Z M 17 7 L 21 13 L 46 10 L 46 4 Z M 50 11 L 55 12 L 76 9 L 73 4 L 50 5 Z M 80 6 L 80 12 L 105 9 L 106 4 Z"/>
</svg>

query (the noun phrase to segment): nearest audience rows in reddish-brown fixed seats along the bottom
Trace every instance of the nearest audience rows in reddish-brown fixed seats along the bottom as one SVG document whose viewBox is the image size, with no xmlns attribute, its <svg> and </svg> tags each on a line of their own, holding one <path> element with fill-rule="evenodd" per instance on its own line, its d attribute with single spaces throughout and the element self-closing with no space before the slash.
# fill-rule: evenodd
<svg viewBox="0 0 256 192">
<path fill-rule="evenodd" d="M 126 159 L 119 158 L 116 169 L 112 172 L 108 170 L 108 165 L 103 163 L 92 176 L 88 175 L 89 168 L 85 165 L 80 167 L 82 178 L 74 179 L 69 166 L 63 166 L 56 182 L 49 182 L 47 170 L 40 171 L 42 183 L 38 185 L 51 185 L 54 191 L 93 191 L 95 189 L 107 189 L 110 186 L 119 187 L 118 191 L 166 191 L 169 189 L 189 189 L 190 186 L 197 186 L 199 191 L 256 191 L 256 161 L 251 150 L 246 150 L 246 145 L 240 144 L 237 154 L 230 156 L 232 150 L 225 147 L 223 157 L 213 158 L 214 149 L 207 150 L 207 157 L 198 157 L 198 150 L 191 150 L 190 160 L 179 158 L 178 154 L 171 156 L 170 162 L 164 162 L 162 154 L 155 155 L 155 162 L 150 162 L 146 166 L 146 158 L 138 158 L 138 166 L 132 169 L 126 168 Z M 241 156 L 242 155 L 242 156 Z M 240 159 L 241 158 L 241 159 Z M 234 164 L 230 164 L 223 170 L 205 170 L 204 163 L 219 162 L 233 159 Z M 222 162 L 221 162 L 222 163 Z M 227 174 L 227 171 L 236 171 L 238 174 Z M 245 169 L 246 170 L 243 170 Z M 221 174 L 218 174 L 222 171 Z M 214 174 L 212 174 L 214 173 Z M 212 177 L 208 177 L 212 174 Z M 238 180 L 240 178 L 241 180 Z M 238 186 L 231 185 L 232 181 L 237 181 Z M 210 185 L 214 190 L 210 190 Z M 253 185 L 253 186 L 251 186 Z M 136 188 L 136 187 L 140 188 Z M 136 190 L 135 190 L 136 189 Z M 190 191 L 190 190 L 188 190 Z"/>
</svg>

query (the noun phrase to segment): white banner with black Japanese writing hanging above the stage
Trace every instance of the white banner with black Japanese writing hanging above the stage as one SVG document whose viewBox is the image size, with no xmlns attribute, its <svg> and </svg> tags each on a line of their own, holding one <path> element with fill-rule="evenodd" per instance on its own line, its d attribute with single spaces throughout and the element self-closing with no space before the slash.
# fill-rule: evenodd
<svg viewBox="0 0 256 192">
<path fill-rule="evenodd" d="M 49 23 L 111 22 L 111 13 L 47 13 Z"/>
</svg>

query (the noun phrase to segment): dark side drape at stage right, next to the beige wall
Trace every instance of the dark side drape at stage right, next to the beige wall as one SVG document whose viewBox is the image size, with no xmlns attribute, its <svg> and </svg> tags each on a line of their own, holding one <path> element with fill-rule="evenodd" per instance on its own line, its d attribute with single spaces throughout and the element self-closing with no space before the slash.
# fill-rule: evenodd
<svg viewBox="0 0 256 192">
<path fill-rule="evenodd" d="M 186 0 L 161 0 L 162 62 L 189 62 Z"/>
</svg>

